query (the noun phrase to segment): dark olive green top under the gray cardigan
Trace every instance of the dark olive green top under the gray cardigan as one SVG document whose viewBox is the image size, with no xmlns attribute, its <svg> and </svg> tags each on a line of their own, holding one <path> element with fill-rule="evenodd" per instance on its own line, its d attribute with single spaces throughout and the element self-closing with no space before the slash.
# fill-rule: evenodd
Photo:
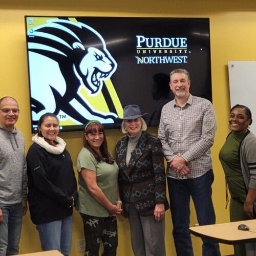
<svg viewBox="0 0 256 256">
<path fill-rule="evenodd" d="M 236 135 L 231 133 L 219 154 L 230 195 L 237 198 L 245 198 L 247 194 L 238 154 L 239 144 L 243 137 L 244 134 Z"/>
</svg>

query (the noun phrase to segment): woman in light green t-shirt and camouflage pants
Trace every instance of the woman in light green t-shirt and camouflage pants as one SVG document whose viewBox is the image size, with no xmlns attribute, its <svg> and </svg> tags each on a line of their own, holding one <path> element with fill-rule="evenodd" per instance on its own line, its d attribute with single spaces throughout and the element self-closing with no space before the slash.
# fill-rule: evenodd
<svg viewBox="0 0 256 256">
<path fill-rule="evenodd" d="M 122 211 L 117 177 L 118 166 L 108 151 L 103 125 L 89 121 L 84 129 L 84 147 L 77 159 L 78 203 L 86 240 L 85 255 L 98 256 L 102 240 L 104 256 L 115 256 L 116 215 Z"/>
</svg>

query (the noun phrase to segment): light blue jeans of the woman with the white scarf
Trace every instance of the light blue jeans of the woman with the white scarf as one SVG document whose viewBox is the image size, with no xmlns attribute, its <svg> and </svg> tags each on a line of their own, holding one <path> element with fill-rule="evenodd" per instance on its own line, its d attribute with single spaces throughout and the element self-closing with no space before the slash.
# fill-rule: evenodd
<svg viewBox="0 0 256 256">
<path fill-rule="evenodd" d="M 36 225 L 43 251 L 58 250 L 69 255 L 72 243 L 72 216 Z"/>
</svg>

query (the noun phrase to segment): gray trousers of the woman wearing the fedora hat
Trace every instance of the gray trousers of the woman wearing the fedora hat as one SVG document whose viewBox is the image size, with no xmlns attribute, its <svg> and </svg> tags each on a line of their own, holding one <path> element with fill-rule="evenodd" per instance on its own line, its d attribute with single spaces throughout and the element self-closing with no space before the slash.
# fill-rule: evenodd
<svg viewBox="0 0 256 256">
<path fill-rule="evenodd" d="M 165 256 L 165 221 L 155 216 L 140 216 L 133 204 L 129 207 L 131 240 L 135 256 Z"/>
</svg>

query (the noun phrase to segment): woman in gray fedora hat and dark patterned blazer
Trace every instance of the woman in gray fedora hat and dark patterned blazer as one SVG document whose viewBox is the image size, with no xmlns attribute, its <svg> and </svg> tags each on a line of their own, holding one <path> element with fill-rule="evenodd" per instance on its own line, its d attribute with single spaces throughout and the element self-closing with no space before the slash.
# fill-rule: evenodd
<svg viewBox="0 0 256 256">
<path fill-rule="evenodd" d="M 125 106 L 117 118 L 126 134 L 116 144 L 118 183 L 135 256 L 164 256 L 165 170 L 160 140 L 145 132 L 147 118 L 138 105 Z"/>
</svg>

